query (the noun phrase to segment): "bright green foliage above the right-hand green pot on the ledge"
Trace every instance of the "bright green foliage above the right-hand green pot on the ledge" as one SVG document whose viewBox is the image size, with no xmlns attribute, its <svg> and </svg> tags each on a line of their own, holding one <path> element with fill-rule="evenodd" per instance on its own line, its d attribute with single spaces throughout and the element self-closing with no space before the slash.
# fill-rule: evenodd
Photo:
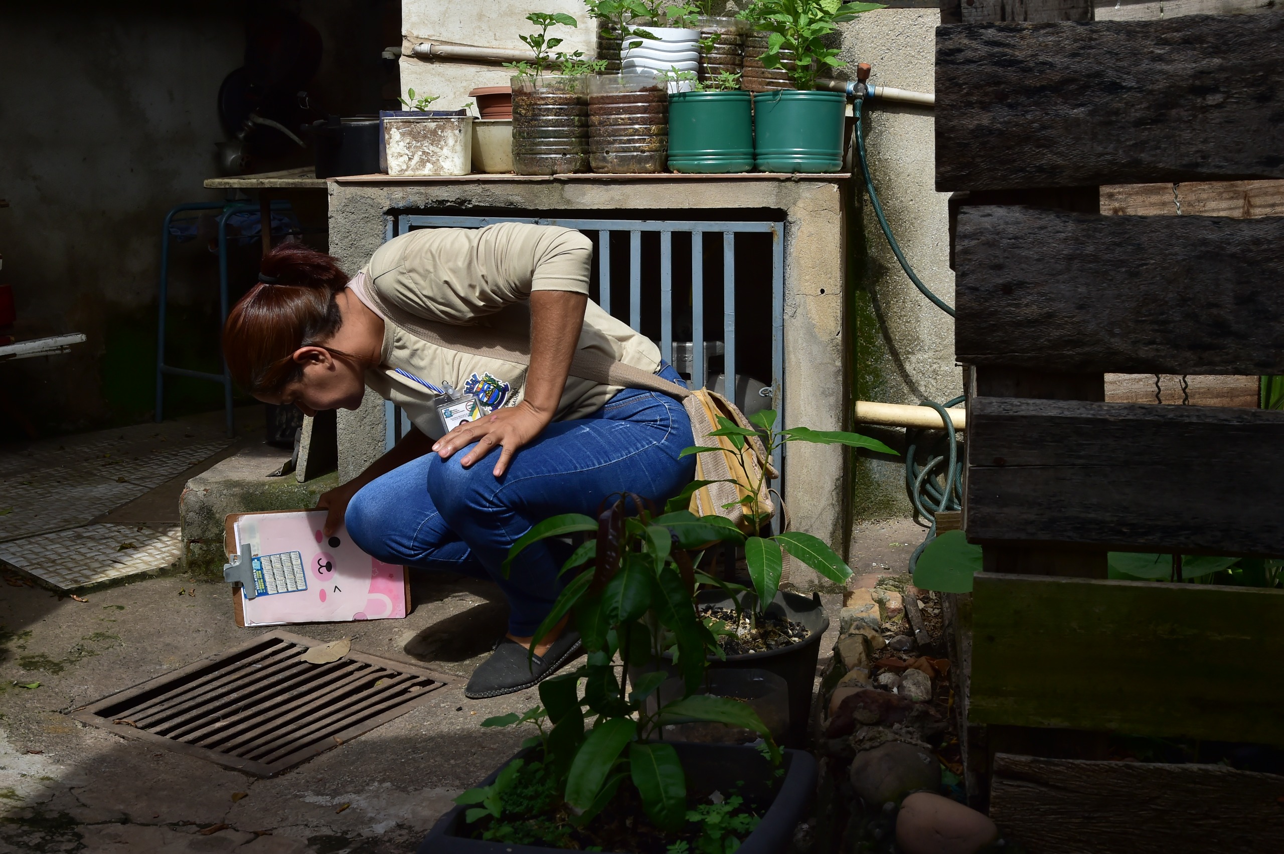
<svg viewBox="0 0 1284 854">
<path fill-rule="evenodd" d="M 758 30 L 772 33 L 763 54 L 765 68 L 781 67 L 781 51 L 794 53 L 797 65 L 790 77 L 799 89 L 815 89 L 815 78 L 827 68 L 846 65 L 838 50 L 828 48 L 824 37 L 838 23 L 851 21 L 862 12 L 885 9 L 881 3 L 842 3 L 842 0 L 754 0 L 740 17 Z"/>
</svg>

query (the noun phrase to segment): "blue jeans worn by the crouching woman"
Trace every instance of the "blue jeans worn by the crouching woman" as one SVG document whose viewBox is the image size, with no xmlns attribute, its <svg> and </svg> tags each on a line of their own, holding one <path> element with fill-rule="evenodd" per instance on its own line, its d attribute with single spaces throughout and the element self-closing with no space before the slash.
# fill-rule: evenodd
<svg viewBox="0 0 1284 854">
<path fill-rule="evenodd" d="M 670 366 L 659 376 L 683 384 Z M 529 546 L 503 578 L 508 547 L 550 516 L 596 516 L 612 492 L 663 506 L 695 476 L 695 457 L 678 458 L 691 444 L 677 398 L 624 389 L 588 417 L 550 424 L 502 478 L 490 474 L 499 448 L 469 469 L 460 460 L 473 446 L 449 460 L 428 453 L 362 487 L 344 521 L 353 542 L 381 561 L 494 580 L 508 597 L 508 631 L 528 637 L 566 584 L 557 573 L 571 547 L 556 539 Z"/>
</svg>

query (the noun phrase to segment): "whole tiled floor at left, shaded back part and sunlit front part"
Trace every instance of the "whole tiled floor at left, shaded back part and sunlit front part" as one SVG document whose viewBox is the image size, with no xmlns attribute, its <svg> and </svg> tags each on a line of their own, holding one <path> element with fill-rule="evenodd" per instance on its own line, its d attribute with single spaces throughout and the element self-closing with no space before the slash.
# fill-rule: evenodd
<svg viewBox="0 0 1284 854">
<path fill-rule="evenodd" d="M 176 515 L 94 523 L 231 442 L 214 412 L 0 447 L 0 561 L 62 589 L 168 566 L 180 551 Z"/>
</svg>

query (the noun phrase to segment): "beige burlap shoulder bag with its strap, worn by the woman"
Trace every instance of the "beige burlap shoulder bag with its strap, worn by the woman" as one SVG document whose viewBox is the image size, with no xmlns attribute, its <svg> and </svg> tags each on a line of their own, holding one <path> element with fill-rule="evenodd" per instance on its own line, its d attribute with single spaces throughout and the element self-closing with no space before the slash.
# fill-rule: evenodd
<svg viewBox="0 0 1284 854">
<path fill-rule="evenodd" d="M 455 326 L 416 317 L 399 306 L 390 304 L 374 288 L 369 288 L 365 276 L 358 276 L 354 286 L 361 288 L 361 293 L 386 320 L 429 344 L 458 353 L 514 362 L 515 365 L 530 365 L 530 340 L 524 335 L 485 326 Z M 779 474 L 767 456 L 767 448 L 763 447 L 761 440 L 756 437 L 749 439 L 746 453 L 742 456 L 731 442 L 731 437 L 709 435 L 719 429 L 719 416 L 729 419 L 738 426 L 752 429 L 749 419 L 725 397 L 706 388 L 691 390 L 663 380 L 639 367 L 586 351 L 577 351 L 570 363 L 570 372 L 573 376 L 603 385 L 643 388 L 682 401 L 683 408 L 691 416 L 691 433 L 696 446 L 718 448 L 718 451 L 704 451 L 696 455 L 696 480 L 714 480 L 716 483 L 710 483 L 692 494 L 691 512 L 697 516 L 711 514 L 725 516 L 745 533 L 751 533 L 754 525 L 745 512 L 746 505 L 743 503 L 750 489 L 745 484 L 759 482 L 763 485 L 759 489 L 758 506 L 751 512 L 759 515 L 774 512 L 768 484 Z M 767 478 L 761 476 L 764 467 Z M 736 483 L 727 483 L 728 480 Z"/>
</svg>

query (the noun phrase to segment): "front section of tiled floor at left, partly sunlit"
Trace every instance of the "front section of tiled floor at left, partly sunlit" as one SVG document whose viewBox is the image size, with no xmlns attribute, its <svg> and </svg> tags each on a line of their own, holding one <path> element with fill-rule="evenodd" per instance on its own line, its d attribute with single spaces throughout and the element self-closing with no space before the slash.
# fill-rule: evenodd
<svg viewBox="0 0 1284 854">
<path fill-rule="evenodd" d="M 83 525 L 0 543 L 0 561 L 62 589 L 163 569 L 178 560 L 177 525 Z"/>
</svg>

